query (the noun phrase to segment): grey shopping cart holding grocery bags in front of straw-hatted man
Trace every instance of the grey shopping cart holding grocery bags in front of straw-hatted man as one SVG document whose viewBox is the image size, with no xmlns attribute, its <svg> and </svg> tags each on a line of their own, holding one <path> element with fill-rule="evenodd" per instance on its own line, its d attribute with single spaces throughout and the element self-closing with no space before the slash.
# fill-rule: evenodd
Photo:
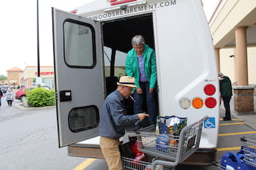
<svg viewBox="0 0 256 170">
<path fill-rule="evenodd" d="M 139 150 L 155 158 L 151 163 L 143 161 L 132 163 L 132 159 L 122 158 L 124 169 L 162 170 L 165 169 L 164 167 L 175 169 L 178 163 L 185 161 L 198 149 L 203 122 L 207 119 L 206 116 L 192 125 L 187 125 L 178 136 L 137 132 Z"/>
</svg>

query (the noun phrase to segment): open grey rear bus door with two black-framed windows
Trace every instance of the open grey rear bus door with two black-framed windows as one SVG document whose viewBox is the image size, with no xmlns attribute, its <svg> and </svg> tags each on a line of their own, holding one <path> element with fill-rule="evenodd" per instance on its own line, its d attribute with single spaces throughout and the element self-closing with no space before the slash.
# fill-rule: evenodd
<svg viewBox="0 0 256 170">
<path fill-rule="evenodd" d="M 104 102 L 100 24 L 53 8 L 59 147 L 98 135 Z"/>
</svg>

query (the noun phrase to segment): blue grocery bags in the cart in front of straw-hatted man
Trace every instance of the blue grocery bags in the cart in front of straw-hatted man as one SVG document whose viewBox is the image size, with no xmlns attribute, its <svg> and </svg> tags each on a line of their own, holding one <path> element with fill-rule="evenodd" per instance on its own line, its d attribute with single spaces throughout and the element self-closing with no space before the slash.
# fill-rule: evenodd
<svg viewBox="0 0 256 170">
<path fill-rule="evenodd" d="M 156 149 L 164 152 L 170 152 L 169 148 L 176 149 L 178 135 L 186 125 L 187 117 L 158 116 L 156 131 L 159 130 L 159 136 L 156 139 Z"/>
</svg>

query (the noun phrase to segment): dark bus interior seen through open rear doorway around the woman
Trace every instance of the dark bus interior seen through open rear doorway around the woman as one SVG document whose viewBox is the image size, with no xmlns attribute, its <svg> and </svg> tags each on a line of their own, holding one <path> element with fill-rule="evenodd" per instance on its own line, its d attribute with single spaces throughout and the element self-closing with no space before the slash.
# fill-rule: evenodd
<svg viewBox="0 0 256 170">
<path fill-rule="evenodd" d="M 145 43 L 155 49 L 153 25 L 152 13 L 102 23 L 107 95 L 116 90 L 116 82 L 126 74 L 125 59 L 128 51 L 132 49 L 133 36 L 142 35 Z M 146 104 L 143 105 L 146 111 Z M 126 100 L 125 109 L 128 115 L 133 114 L 131 98 Z"/>
</svg>

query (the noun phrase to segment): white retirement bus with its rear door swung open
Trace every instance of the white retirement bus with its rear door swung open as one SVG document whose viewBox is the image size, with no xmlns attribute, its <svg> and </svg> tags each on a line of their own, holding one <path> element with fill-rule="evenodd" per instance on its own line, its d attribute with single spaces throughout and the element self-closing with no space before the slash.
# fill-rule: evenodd
<svg viewBox="0 0 256 170">
<path fill-rule="evenodd" d="M 59 147 L 68 146 L 69 155 L 103 158 L 102 104 L 125 74 L 126 53 L 138 34 L 156 52 L 159 115 L 187 117 L 188 124 L 209 117 L 200 149 L 185 163 L 212 163 L 219 80 L 200 0 L 95 0 L 73 13 L 53 8 Z"/>
</svg>

